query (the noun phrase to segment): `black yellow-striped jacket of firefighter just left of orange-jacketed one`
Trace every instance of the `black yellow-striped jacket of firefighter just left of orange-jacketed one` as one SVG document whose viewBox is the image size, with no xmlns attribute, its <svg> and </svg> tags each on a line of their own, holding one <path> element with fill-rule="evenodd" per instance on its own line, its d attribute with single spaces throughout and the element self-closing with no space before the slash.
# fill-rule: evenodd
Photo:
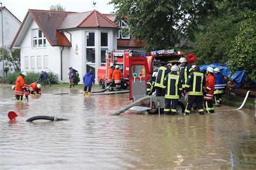
<svg viewBox="0 0 256 170">
<path fill-rule="evenodd" d="M 203 87 L 205 86 L 204 74 L 196 70 L 187 77 L 185 88 L 188 95 L 203 96 Z"/>
</svg>

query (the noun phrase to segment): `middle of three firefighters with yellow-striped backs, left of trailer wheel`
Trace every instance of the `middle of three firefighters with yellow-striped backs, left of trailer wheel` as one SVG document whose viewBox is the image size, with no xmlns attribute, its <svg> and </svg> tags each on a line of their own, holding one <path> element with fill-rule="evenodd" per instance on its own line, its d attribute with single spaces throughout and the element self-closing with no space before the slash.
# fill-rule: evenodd
<svg viewBox="0 0 256 170">
<path fill-rule="evenodd" d="M 167 115 L 177 113 L 178 100 L 181 97 L 181 77 L 177 74 L 177 70 L 176 65 L 172 66 L 171 73 L 167 74 L 163 83 L 166 86 L 164 114 Z"/>
</svg>

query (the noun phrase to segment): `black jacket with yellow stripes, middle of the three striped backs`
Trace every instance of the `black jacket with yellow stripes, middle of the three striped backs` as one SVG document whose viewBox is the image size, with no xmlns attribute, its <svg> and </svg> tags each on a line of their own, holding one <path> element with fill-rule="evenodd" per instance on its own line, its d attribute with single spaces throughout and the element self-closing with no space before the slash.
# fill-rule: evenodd
<svg viewBox="0 0 256 170">
<path fill-rule="evenodd" d="M 177 74 L 167 74 L 164 78 L 165 98 L 179 99 L 180 91 L 182 90 L 181 77 Z"/>
</svg>

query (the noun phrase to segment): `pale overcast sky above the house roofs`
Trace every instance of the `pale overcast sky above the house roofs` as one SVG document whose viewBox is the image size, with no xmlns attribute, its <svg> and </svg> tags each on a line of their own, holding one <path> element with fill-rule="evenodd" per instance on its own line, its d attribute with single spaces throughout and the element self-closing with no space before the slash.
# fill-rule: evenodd
<svg viewBox="0 0 256 170">
<path fill-rule="evenodd" d="M 85 12 L 93 10 L 93 0 L 0 0 L 11 13 L 21 22 L 28 9 L 50 10 L 51 5 L 60 4 L 66 11 Z M 110 0 L 94 0 L 96 10 L 101 13 L 113 12 L 113 5 L 107 5 Z"/>
</svg>

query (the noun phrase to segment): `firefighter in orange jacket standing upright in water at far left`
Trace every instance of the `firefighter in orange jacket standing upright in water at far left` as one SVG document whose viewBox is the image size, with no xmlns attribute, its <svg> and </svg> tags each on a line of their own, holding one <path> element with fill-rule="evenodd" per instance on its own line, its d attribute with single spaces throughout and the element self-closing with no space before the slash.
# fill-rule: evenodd
<svg viewBox="0 0 256 170">
<path fill-rule="evenodd" d="M 15 81 L 15 90 L 14 90 L 14 94 L 17 98 L 17 101 L 21 102 L 22 98 L 23 98 L 23 94 L 24 91 L 28 92 L 28 90 L 25 87 L 25 81 L 24 78 L 27 76 L 28 74 L 23 71 L 22 73 L 19 73 L 19 77 L 16 79 Z"/>
</svg>

